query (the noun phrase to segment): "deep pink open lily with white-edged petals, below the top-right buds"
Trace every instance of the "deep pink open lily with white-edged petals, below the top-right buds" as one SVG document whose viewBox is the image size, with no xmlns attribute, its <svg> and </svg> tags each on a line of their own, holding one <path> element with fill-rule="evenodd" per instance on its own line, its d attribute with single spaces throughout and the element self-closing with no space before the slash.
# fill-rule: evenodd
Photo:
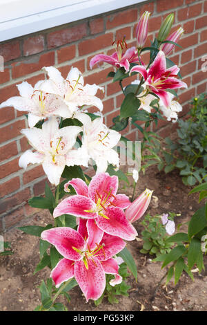
<svg viewBox="0 0 207 325">
<path fill-rule="evenodd" d="M 177 79 L 178 66 L 166 68 L 166 57 L 162 50 L 159 51 L 148 71 L 145 66 L 133 66 L 130 74 L 135 71 L 144 77 L 146 89 L 155 93 L 166 107 L 170 105 L 170 95 L 166 89 L 188 88 L 185 82 Z"/>
</svg>

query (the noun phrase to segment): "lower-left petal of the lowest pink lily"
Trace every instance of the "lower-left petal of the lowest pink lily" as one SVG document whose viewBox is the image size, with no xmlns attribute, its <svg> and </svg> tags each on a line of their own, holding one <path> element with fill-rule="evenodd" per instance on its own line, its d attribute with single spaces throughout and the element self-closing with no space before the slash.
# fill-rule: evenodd
<svg viewBox="0 0 207 325">
<path fill-rule="evenodd" d="M 65 282 L 74 277 L 74 261 L 70 259 L 61 259 L 55 268 L 53 268 L 50 273 L 50 277 L 55 282 L 56 288 Z"/>
</svg>

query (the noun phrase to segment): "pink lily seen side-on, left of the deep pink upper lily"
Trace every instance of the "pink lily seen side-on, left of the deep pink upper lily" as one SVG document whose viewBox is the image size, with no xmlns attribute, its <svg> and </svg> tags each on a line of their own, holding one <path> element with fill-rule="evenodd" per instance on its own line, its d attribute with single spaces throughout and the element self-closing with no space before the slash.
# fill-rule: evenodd
<svg viewBox="0 0 207 325">
<path fill-rule="evenodd" d="M 137 48 L 135 48 L 135 46 L 128 48 L 126 52 L 123 53 L 124 48 L 127 48 L 126 41 L 124 39 L 123 41 L 117 41 L 116 52 L 112 55 L 95 55 L 95 57 L 92 57 L 92 59 L 90 60 L 90 68 L 92 68 L 95 64 L 98 64 L 99 62 L 106 62 L 108 64 L 111 64 L 112 66 L 116 66 L 117 68 L 121 68 L 122 66 L 124 66 L 126 73 L 128 73 L 130 63 L 137 62 L 139 59 L 137 56 Z"/>
</svg>

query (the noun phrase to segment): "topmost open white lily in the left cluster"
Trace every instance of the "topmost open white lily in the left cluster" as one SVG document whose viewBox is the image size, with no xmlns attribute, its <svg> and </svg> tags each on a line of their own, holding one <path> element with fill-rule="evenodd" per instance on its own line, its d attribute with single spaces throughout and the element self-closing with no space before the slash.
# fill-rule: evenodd
<svg viewBox="0 0 207 325">
<path fill-rule="evenodd" d="M 66 80 L 63 79 L 59 70 L 54 66 L 44 67 L 43 70 L 48 73 L 50 78 L 44 84 L 45 91 L 61 96 L 68 105 L 71 116 L 79 110 L 79 106 L 83 105 L 96 106 L 102 111 L 103 104 L 95 95 L 98 89 L 103 91 L 103 87 L 96 84 L 83 86 L 83 75 L 78 68 L 72 67 Z"/>
</svg>

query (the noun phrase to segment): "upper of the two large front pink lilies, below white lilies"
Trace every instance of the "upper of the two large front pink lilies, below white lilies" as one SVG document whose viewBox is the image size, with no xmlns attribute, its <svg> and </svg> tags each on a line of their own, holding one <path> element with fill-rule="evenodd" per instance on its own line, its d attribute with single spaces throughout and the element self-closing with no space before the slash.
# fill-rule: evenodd
<svg viewBox="0 0 207 325">
<path fill-rule="evenodd" d="M 137 231 L 130 224 L 123 209 L 130 205 L 128 196 L 117 194 L 118 177 L 108 173 L 96 174 L 86 185 L 80 178 L 72 178 L 68 185 L 77 195 L 65 198 L 53 212 L 53 216 L 72 214 L 83 219 L 95 219 L 97 226 L 107 234 L 132 241 Z"/>
</svg>

